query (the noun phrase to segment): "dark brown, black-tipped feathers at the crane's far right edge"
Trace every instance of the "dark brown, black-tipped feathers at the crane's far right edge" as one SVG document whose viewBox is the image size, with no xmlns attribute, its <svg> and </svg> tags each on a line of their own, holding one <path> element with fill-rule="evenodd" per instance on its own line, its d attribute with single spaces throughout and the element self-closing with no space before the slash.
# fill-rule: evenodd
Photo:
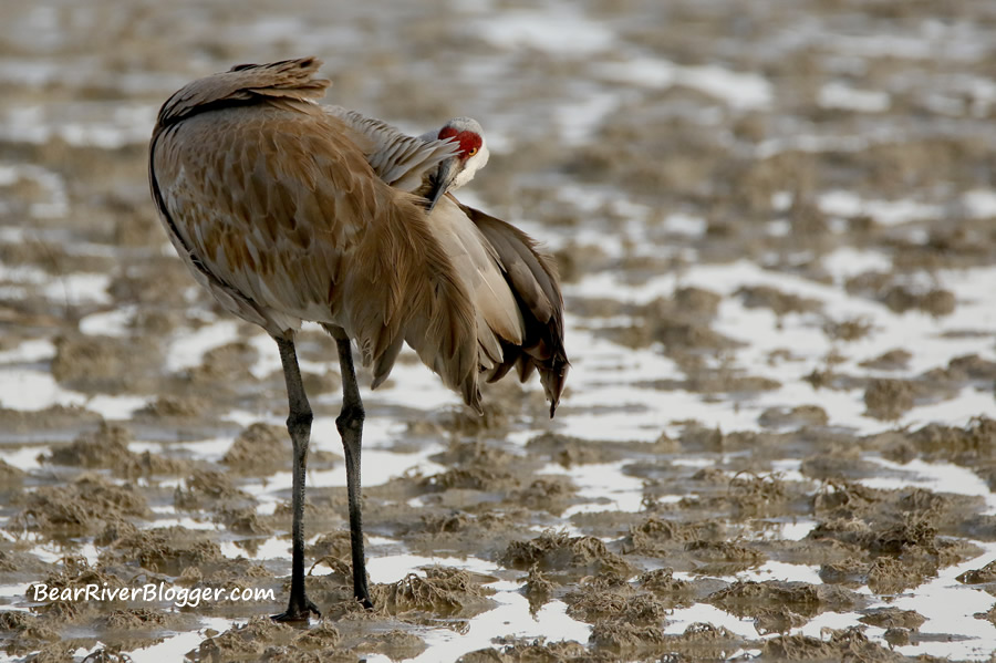
<svg viewBox="0 0 996 663">
<path fill-rule="evenodd" d="M 460 208 L 494 247 L 526 323 L 522 343 L 504 344 L 504 361 L 490 372 L 488 382 L 499 380 L 512 366 L 522 382 L 538 371 L 552 417 L 570 369 L 563 345 L 563 297 L 553 259 L 515 226 L 473 207 Z"/>
</svg>

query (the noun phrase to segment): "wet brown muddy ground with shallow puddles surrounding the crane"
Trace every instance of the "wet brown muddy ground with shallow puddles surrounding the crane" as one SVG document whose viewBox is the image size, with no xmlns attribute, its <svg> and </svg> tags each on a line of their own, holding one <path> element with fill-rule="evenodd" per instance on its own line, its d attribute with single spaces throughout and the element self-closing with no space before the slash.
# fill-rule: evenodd
<svg viewBox="0 0 996 663">
<path fill-rule="evenodd" d="M 0 4 L 10 660 L 989 660 L 996 600 L 978 628 L 932 614 L 996 594 L 996 4 L 282 7 Z M 303 54 L 334 103 L 481 121 L 468 199 L 554 252 L 574 374 L 552 422 L 536 384 L 494 385 L 477 417 L 412 356 L 364 390 L 369 556 L 397 558 L 365 612 L 334 344 L 305 329 L 324 619 L 292 628 L 266 617 L 290 572 L 276 348 L 193 282 L 145 159 L 186 81 Z M 738 266 L 765 279 L 707 278 Z M 274 598 L 30 590 L 160 582 Z M 509 595 L 580 631 L 483 631 Z"/>
</svg>

